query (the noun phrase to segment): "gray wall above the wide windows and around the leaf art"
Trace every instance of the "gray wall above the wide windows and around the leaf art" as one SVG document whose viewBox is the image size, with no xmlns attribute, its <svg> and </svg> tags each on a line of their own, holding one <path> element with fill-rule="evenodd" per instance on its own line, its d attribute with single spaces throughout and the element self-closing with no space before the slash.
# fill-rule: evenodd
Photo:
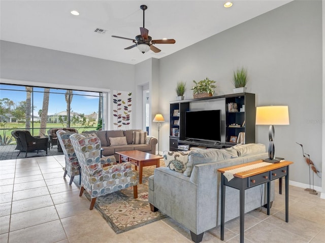
<svg viewBox="0 0 325 243">
<path fill-rule="evenodd" d="M 69 85 L 69 88 L 82 87 L 93 91 L 132 91 L 136 100 L 135 65 L 7 41 L 1 41 L 0 47 L 2 80 L 29 81 L 32 82 L 29 85 L 49 87 Z M 137 121 L 136 106 L 133 109 L 134 127 Z M 112 104 L 109 110 L 112 110 Z M 112 122 L 111 118 L 110 128 Z"/>
</svg>

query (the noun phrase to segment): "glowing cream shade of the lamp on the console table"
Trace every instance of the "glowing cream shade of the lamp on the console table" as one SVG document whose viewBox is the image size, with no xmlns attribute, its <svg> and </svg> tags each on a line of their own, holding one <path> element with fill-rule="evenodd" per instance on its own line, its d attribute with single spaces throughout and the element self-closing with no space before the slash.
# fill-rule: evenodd
<svg viewBox="0 0 325 243">
<path fill-rule="evenodd" d="M 256 125 L 289 125 L 288 106 L 256 107 Z"/>
</svg>

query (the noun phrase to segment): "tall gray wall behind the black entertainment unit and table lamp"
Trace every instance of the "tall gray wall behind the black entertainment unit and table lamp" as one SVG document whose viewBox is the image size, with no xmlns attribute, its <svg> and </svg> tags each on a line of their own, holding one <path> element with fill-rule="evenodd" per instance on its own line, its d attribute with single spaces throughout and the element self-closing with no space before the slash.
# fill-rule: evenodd
<svg viewBox="0 0 325 243">
<path fill-rule="evenodd" d="M 322 131 L 322 7 L 321 1 L 294 1 L 160 59 L 159 106 L 168 117 L 168 102 L 180 80 L 187 82 L 185 98 L 192 98 L 192 80 L 209 77 L 216 94 L 233 92 L 232 72 L 248 69 L 248 92 L 256 106 L 289 106 L 289 126 L 275 126 L 276 155 L 294 161 L 290 180 L 309 184 L 304 145 L 321 170 Z M 169 148 L 169 126 L 162 126 L 163 150 Z M 203 124 L 204 127 L 204 124 Z M 256 126 L 256 142 L 268 145 L 268 126 Z M 321 179 L 315 177 L 315 186 Z"/>
</svg>

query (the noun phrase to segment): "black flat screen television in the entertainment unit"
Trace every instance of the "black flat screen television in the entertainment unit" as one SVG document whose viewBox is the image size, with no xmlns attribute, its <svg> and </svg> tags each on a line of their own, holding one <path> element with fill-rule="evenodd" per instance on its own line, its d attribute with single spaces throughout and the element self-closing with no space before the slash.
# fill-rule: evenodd
<svg viewBox="0 0 325 243">
<path fill-rule="evenodd" d="M 220 142 L 221 110 L 185 112 L 185 139 Z"/>
</svg>

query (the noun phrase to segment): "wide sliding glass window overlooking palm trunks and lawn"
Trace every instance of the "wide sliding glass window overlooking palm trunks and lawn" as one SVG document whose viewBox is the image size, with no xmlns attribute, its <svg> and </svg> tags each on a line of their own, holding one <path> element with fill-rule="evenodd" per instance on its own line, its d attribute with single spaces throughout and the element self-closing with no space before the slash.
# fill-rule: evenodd
<svg viewBox="0 0 325 243">
<path fill-rule="evenodd" d="M 15 129 L 42 137 L 54 127 L 75 127 L 79 133 L 100 129 L 104 97 L 103 92 L 0 84 L 1 145 L 15 144 Z"/>
</svg>

